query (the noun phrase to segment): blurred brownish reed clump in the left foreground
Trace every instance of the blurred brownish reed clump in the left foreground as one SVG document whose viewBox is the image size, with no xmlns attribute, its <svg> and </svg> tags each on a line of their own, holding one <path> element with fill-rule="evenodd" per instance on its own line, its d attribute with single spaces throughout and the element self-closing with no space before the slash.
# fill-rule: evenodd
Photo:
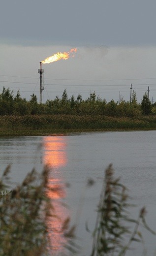
<svg viewBox="0 0 156 256">
<path fill-rule="evenodd" d="M 49 169 L 45 167 L 41 174 L 33 169 L 20 185 L 9 191 L 9 171 L 7 166 L 0 179 L 0 256 L 51 255 L 50 233 L 55 236 L 55 230 L 49 229 L 48 222 L 53 223 L 58 216 L 48 194 L 58 193 L 59 188 L 49 186 Z M 75 251 L 74 243 L 70 245 L 74 227 L 69 229 L 69 221 L 62 221 L 61 231 L 57 232 L 66 238 L 68 248 Z"/>
</svg>

